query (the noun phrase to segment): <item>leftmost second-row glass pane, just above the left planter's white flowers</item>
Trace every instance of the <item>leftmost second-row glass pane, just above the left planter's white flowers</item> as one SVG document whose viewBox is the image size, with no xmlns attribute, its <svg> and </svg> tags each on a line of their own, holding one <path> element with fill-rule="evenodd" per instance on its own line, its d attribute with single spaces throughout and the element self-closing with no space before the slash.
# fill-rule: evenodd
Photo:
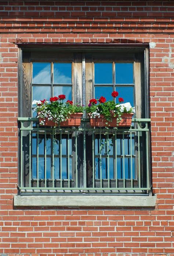
<svg viewBox="0 0 174 256">
<path fill-rule="evenodd" d="M 33 86 L 33 98 L 32 100 L 50 100 L 51 86 Z M 33 105 L 34 107 L 35 105 Z"/>
</svg>

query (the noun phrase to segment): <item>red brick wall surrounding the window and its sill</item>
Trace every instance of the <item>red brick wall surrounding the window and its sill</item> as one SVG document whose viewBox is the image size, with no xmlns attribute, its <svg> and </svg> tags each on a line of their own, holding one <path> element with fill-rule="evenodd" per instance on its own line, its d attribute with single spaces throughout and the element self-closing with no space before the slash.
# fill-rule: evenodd
<svg viewBox="0 0 174 256">
<path fill-rule="evenodd" d="M 106 256 L 174 253 L 174 2 L 0 1 L 0 253 Z M 150 48 L 156 209 L 15 209 L 15 42 L 155 43 Z"/>
</svg>

